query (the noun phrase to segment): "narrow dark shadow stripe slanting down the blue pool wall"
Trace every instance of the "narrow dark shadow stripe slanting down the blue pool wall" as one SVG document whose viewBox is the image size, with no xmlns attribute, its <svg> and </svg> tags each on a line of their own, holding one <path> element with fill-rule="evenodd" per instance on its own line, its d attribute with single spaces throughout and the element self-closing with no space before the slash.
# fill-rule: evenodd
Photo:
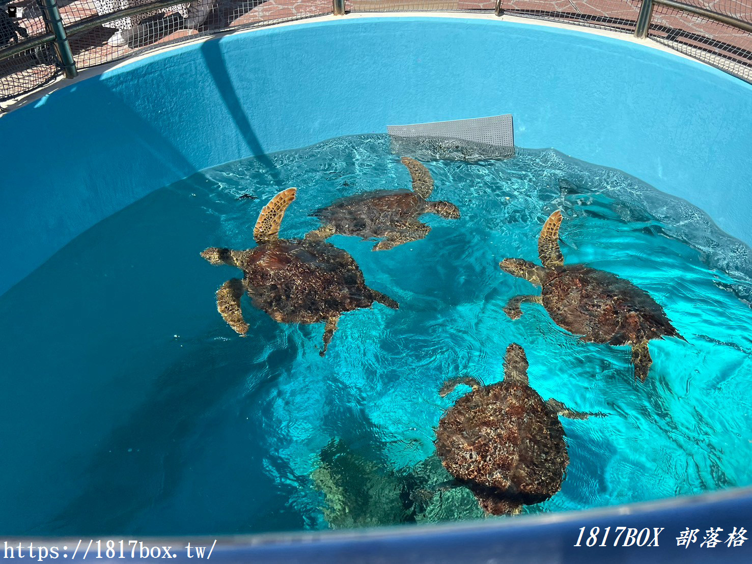
<svg viewBox="0 0 752 564">
<path fill-rule="evenodd" d="M 241 100 L 235 92 L 235 86 L 232 84 L 232 78 L 222 56 L 220 41 L 205 41 L 201 46 L 201 51 L 206 62 L 206 68 L 214 80 L 214 85 L 217 86 L 217 92 L 222 96 L 225 106 L 232 115 L 235 125 L 238 126 L 238 131 L 243 135 L 248 148 L 253 151 L 256 159 L 265 166 L 269 176 L 274 179 L 274 183 L 277 186 L 282 186 L 282 175 L 274 162 L 266 156 L 259 138 L 253 132 L 253 126 L 250 124 Z"/>
</svg>

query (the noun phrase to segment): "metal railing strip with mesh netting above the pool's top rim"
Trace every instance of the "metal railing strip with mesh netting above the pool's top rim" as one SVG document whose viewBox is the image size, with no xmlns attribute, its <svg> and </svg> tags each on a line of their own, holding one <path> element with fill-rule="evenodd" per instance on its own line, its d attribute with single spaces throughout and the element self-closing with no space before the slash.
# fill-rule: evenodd
<svg viewBox="0 0 752 564">
<path fill-rule="evenodd" d="M 480 11 L 610 29 L 752 83 L 752 0 L 0 0 L 0 102 L 197 35 L 368 11 Z"/>
</svg>

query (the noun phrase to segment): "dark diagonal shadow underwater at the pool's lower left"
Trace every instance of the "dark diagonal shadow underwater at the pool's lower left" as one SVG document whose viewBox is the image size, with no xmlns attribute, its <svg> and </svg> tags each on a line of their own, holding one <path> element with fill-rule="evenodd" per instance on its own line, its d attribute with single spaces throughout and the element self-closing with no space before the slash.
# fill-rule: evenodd
<svg viewBox="0 0 752 564">
<path fill-rule="evenodd" d="M 56 517 L 38 527 L 44 530 L 35 533 L 131 534 L 142 528 L 144 519 L 153 521 L 155 516 L 164 529 L 156 534 L 185 533 L 170 530 L 174 524 L 165 523 L 160 517 L 165 516 L 162 505 L 173 498 L 183 485 L 186 469 L 196 463 L 193 447 L 197 439 L 205 437 L 202 427 L 211 429 L 212 414 L 234 388 L 247 386 L 249 374 L 263 374 L 252 384 L 258 389 L 289 369 L 291 359 L 296 357 L 296 350 L 285 349 L 261 358 L 263 349 L 263 341 L 253 338 L 211 339 L 165 370 L 156 378 L 153 393 L 144 405 L 102 440 L 89 464 L 82 468 L 80 478 L 86 484 L 83 492 Z M 248 393 L 245 390 L 239 394 Z M 259 421 L 259 436 L 261 426 Z M 262 456 L 253 456 L 252 463 L 247 474 L 265 477 Z M 211 476 L 205 478 L 199 484 L 211 487 Z M 273 496 L 271 478 L 269 481 L 258 484 L 259 490 Z M 179 512 L 179 501 L 166 511 Z M 207 529 L 217 527 L 213 523 L 204 525 Z"/>
</svg>

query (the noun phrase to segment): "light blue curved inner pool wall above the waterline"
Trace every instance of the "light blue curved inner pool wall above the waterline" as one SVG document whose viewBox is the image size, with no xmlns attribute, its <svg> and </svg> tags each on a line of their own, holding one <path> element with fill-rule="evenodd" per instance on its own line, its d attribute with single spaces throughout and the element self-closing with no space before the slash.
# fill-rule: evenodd
<svg viewBox="0 0 752 564">
<path fill-rule="evenodd" d="M 577 29 L 344 17 L 156 54 L 0 118 L 0 293 L 196 170 L 388 124 L 503 113 L 517 145 L 620 168 L 752 242 L 752 85 Z"/>
</svg>

